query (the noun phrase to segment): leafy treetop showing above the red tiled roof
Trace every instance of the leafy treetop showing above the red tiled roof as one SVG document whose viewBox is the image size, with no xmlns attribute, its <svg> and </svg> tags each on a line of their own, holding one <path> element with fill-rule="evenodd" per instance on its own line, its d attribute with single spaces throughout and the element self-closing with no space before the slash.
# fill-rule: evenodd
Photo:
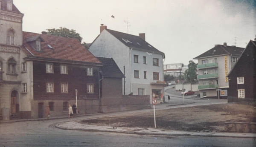
<svg viewBox="0 0 256 147">
<path fill-rule="evenodd" d="M 46 29 L 47 30 L 47 34 L 49 35 L 54 35 L 54 36 L 61 36 L 61 37 L 67 37 L 67 38 L 76 38 L 77 40 L 79 40 L 79 42 L 81 43 L 82 41 L 82 37 L 80 36 L 80 34 L 76 33 L 75 30 L 70 30 L 68 28 L 52 28 L 52 29 Z M 84 42 L 85 43 L 85 42 Z M 86 43 L 85 43 L 86 45 Z"/>
</svg>

